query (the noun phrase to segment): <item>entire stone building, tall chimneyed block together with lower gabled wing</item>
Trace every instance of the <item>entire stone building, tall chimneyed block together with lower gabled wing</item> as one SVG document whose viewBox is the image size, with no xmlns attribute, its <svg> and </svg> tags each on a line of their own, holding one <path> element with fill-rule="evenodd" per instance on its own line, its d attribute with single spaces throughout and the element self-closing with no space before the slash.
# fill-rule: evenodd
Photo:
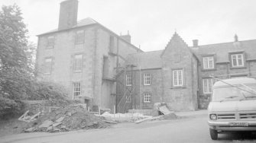
<svg viewBox="0 0 256 143">
<path fill-rule="evenodd" d="M 174 33 L 164 50 L 143 52 L 92 18 L 77 21 L 77 0 L 60 3 L 59 26 L 38 35 L 37 78 L 66 87 L 70 99 L 118 112 L 206 109 L 216 78 L 255 77 L 256 40 L 188 46 Z M 161 47 L 160 47 L 161 48 Z"/>
</svg>

